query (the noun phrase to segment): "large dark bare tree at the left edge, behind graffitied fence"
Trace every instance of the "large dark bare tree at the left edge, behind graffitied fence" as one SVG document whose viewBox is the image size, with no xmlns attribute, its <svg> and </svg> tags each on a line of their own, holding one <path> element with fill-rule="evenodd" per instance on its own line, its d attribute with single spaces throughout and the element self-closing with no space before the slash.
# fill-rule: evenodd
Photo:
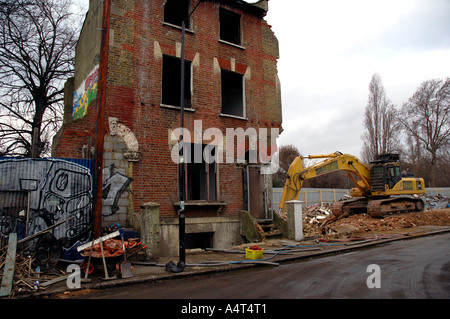
<svg viewBox="0 0 450 319">
<path fill-rule="evenodd" d="M 40 157 L 62 121 L 79 23 L 71 0 L 0 0 L 0 155 Z"/>
</svg>

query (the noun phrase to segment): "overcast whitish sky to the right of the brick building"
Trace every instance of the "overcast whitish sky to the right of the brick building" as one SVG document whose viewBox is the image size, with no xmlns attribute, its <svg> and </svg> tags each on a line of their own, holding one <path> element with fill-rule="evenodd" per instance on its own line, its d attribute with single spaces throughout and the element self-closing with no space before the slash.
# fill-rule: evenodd
<svg viewBox="0 0 450 319">
<path fill-rule="evenodd" d="M 280 46 L 278 146 L 303 155 L 360 155 L 374 73 L 398 107 L 450 76 L 450 0 L 270 0 L 266 20 Z"/>
</svg>

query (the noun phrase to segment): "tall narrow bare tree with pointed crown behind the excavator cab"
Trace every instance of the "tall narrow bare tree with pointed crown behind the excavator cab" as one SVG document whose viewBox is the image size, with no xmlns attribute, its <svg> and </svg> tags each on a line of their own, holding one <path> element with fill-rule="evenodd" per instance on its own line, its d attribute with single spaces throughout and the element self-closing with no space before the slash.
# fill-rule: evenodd
<svg viewBox="0 0 450 319">
<path fill-rule="evenodd" d="M 396 141 L 395 108 L 386 96 L 386 90 L 378 74 L 369 84 L 369 98 L 364 113 L 365 132 L 363 160 L 369 163 L 379 154 L 393 151 Z"/>
</svg>

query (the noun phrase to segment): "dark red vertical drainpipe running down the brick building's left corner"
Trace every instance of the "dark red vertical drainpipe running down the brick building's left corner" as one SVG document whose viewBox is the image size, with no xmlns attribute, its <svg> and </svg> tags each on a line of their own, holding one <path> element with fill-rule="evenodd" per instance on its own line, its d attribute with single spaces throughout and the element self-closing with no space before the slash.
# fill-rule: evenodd
<svg viewBox="0 0 450 319">
<path fill-rule="evenodd" d="M 111 17 L 111 0 L 103 0 L 102 37 L 100 44 L 100 63 L 98 74 L 97 122 L 95 126 L 94 157 L 94 228 L 93 238 L 101 235 L 102 229 L 102 195 L 103 195 L 103 144 L 105 138 L 106 79 L 108 74 L 109 26 Z"/>
</svg>

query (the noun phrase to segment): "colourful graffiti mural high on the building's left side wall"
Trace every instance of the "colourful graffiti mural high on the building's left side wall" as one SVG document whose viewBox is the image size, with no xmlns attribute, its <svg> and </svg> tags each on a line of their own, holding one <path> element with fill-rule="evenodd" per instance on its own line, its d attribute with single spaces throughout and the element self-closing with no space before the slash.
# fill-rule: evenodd
<svg viewBox="0 0 450 319">
<path fill-rule="evenodd" d="M 97 98 L 98 65 L 89 73 L 78 89 L 73 92 L 72 118 L 86 115 L 89 103 Z"/>
</svg>

